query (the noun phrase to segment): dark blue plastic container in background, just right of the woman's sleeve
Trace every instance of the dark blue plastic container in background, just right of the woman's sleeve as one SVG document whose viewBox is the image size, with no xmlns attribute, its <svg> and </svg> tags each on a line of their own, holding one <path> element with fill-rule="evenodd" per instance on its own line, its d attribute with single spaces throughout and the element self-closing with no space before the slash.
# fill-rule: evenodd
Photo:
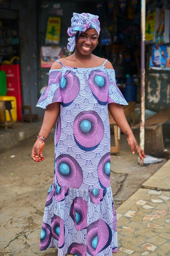
<svg viewBox="0 0 170 256">
<path fill-rule="evenodd" d="M 132 77 L 126 77 L 126 87 L 124 89 L 126 101 L 136 101 L 136 85 Z"/>
</svg>

